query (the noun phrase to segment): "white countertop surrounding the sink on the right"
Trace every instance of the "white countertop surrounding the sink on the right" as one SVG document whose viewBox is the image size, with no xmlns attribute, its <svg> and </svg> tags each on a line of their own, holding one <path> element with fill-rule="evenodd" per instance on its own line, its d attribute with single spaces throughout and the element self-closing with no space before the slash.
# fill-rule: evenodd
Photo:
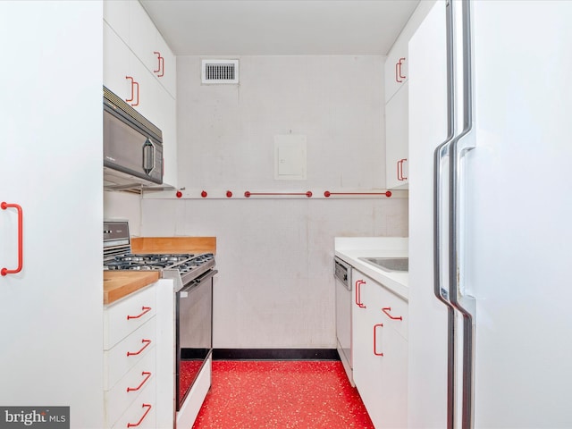
<svg viewBox="0 0 572 429">
<path fill-rule="evenodd" d="M 360 257 L 408 257 L 408 238 L 336 237 L 334 248 L 336 257 L 408 300 L 408 273 L 386 272 L 359 259 Z"/>
</svg>

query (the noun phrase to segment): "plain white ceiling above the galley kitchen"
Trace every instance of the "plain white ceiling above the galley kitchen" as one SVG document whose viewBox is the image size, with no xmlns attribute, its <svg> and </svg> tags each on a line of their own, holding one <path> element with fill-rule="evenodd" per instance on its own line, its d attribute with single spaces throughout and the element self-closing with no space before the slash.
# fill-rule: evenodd
<svg viewBox="0 0 572 429">
<path fill-rule="evenodd" d="M 419 0 L 140 0 L 175 55 L 386 55 Z"/>
</svg>

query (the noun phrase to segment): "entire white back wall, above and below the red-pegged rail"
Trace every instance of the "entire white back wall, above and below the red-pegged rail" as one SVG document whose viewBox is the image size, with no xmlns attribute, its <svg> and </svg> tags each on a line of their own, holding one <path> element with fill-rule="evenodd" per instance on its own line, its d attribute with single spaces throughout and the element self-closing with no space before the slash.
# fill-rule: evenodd
<svg viewBox="0 0 572 429">
<path fill-rule="evenodd" d="M 239 86 L 201 85 L 200 60 L 177 58 L 186 192 L 383 188 L 383 56 L 241 57 Z M 307 181 L 273 179 L 290 130 Z M 215 348 L 333 348 L 333 238 L 408 231 L 406 198 L 149 197 L 142 235 L 217 237 Z"/>
</svg>

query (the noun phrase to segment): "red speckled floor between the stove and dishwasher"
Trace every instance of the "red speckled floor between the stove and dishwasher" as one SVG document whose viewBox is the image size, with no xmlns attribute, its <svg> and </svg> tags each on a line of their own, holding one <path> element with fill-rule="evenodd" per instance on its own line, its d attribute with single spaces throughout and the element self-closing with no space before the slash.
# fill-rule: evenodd
<svg viewBox="0 0 572 429">
<path fill-rule="evenodd" d="M 340 361 L 213 362 L 192 429 L 374 428 Z"/>
</svg>

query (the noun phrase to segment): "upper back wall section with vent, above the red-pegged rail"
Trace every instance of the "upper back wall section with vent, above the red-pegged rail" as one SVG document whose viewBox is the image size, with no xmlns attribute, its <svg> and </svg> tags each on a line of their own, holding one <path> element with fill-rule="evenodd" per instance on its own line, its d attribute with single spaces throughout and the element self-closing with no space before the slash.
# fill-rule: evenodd
<svg viewBox="0 0 572 429">
<path fill-rule="evenodd" d="M 189 188 L 384 186 L 383 56 L 240 58 L 240 85 L 201 85 L 178 57 L 179 183 Z M 307 181 L 274 181 L 273 137 L 307 136 Z M 246 189 L 245 189 L 246 190 Z"/>
</svg>

